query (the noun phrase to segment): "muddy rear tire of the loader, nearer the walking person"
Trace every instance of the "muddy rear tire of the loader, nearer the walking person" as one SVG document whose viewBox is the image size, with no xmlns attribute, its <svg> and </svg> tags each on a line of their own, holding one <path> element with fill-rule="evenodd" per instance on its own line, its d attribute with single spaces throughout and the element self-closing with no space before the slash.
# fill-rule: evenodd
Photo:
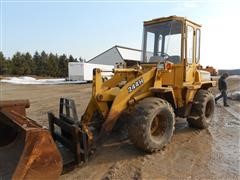
<svg viewBox="0 0 240 180">
<path fill-rule="evenodd" d="M 190 116 L 187 118 L 190 127 L 198 129 L 208 128 L 214 113 L 215 103 L 213 95 L 200 89 L 193 101 Z"/>
</svg>

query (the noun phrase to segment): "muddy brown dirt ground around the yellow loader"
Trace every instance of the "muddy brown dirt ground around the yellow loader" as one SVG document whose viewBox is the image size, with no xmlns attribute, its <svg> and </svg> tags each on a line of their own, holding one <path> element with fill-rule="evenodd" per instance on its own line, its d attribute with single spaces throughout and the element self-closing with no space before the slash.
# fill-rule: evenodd
<svg viewBox="0 0 240 180">
<path fill-rule="evenodd" d="M 240 76 L 228 79 L 230 91 L 240 91 Z M 1 84 L 0 99 L 29 99 L 28 116 L 47 126 L 47 112 L 58 113 L 60 97 L 75 100 L 79 117 L 91 96 L 91 84 Z M 217 90 L 213 90 L 218 93 Z M 229 108 L 219 102 L 208 130 L 188 127 L 177 119 L 171 143 L 145 154 L 122 135 L 113 133 L 95 156 L 60 179 L 240 179 L 240 102 Z"/>
</svg>

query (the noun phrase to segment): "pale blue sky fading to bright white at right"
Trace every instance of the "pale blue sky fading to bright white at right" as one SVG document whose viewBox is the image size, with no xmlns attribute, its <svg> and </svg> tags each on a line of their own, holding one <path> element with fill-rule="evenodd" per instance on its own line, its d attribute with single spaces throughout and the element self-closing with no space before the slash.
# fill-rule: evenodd
<svg viewBox="0 0 240 180">
<path fill-rule="evenodd" d="M 238 0 L 0 0 L 0 51 L 72 54 L 141 49 L 143 21 L 177 15 L 202 25 L 201 64 L 240 68 Z"/>
</svg>

